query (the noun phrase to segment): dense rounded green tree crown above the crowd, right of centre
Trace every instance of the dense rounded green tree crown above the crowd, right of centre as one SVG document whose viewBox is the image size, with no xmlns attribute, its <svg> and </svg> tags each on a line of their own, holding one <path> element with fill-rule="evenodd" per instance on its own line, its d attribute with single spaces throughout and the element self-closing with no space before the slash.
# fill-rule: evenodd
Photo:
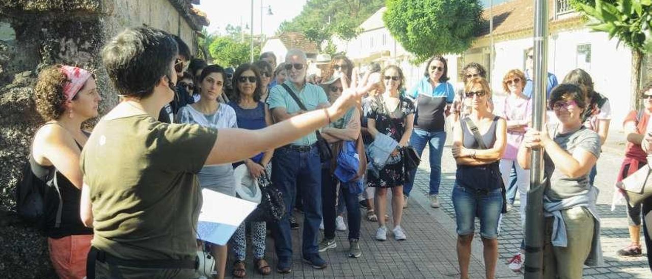
<svg viewBox="0 0 652 279">
<path fill-rule="evenodd" d="M 421 63 L 433 55 L 470 48 L 481 27 L 481 13 L 477 0 L 387 0 L 383 21 Z"/>
</svg>

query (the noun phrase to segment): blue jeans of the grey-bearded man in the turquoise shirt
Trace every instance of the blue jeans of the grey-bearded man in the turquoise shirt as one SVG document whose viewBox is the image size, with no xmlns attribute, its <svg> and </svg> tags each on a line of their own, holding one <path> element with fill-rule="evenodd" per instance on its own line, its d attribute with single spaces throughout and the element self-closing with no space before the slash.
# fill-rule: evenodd
<svg viewBox="0 0 652 279">
<path fill-rule="evenodd" d="M 276 255 L 281 262 L 292 259 L 292 236 L 289 214 L 292 214 L 297 188 L 303 198 L 303 257 L 319 254 L 317 245 L 321 222 L 321 162 L 317 147 L 310 151 L 297 151 L 281 147 L 272 159 L 272 183 L 283 193 L 286 214 L 272 223 L 272 237 Z"/>
</svg>

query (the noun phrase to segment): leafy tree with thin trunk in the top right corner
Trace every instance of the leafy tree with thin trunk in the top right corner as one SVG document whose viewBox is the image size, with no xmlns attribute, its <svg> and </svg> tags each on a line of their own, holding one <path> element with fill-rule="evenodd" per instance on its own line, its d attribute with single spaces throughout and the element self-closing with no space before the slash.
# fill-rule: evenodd
<svg viewBox="0 0 652 279">
<path fill-rule="evenodd" d="M 618 38 L 632 50 L 632 100 L 641 83 L 644 53 L 652 51 L 652 0 L 571 0 L 589 27 Z M 638 103 L 638 102 L 637 102 Z"/>
</svg>

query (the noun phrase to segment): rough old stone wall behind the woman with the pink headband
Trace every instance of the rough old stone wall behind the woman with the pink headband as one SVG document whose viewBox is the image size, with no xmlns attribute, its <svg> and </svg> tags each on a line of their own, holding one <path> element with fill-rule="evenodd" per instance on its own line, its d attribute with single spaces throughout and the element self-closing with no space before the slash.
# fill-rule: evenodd
<svg viewBox="0 0 652 279">
<path fill-rule="evenodd" d="M 117 104 L 117 95 L 99 53 L 125 27 L 164 29 L 194 52 L 196 24 L 180 14 L 179 1 L 185 0 L 0 1 L 0 278 L 56 278 L 46 239 L 12 214 L 31 137 L 44 122 L 32 99 L 38 70 L 65 63 L 95 72 L 103 115 Z"/>
</svg>

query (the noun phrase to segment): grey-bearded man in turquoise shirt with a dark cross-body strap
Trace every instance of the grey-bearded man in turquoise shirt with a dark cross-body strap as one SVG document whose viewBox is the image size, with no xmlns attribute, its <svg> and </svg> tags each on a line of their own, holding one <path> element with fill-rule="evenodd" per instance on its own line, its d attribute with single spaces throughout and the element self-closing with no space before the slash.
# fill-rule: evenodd
<svg viewBox="0 0 652 279">
<path fill-rule="evenodd" d="M 274 86 L 267 99 L 276 122 L 306 112 L 301 110 L 288 91 L 293 91 L 307 110 L 318 110 L 329 106 L 323 89 L 318 85 L 306 83 L 306 60 L 303 51 L 288 51 L 285 66 L 288 78 L 284 83 Z M 315 269 L 326 267 L 326 262 L 319 256 L 317 244 L 322 211 L 321 159 L 316 142 L 317 136 L 313 133 L 274 151 L 272 183 L 283 193 L 286 203 L 286 215 L 272 225 L 272 237 L 278 256 L 276 270 L 280 273 L 292 271 L 289 214 L 294 207 L 297 188 L 301 188 L 301 199 L 303 199 L 303 259 Z"/>
</svg>

